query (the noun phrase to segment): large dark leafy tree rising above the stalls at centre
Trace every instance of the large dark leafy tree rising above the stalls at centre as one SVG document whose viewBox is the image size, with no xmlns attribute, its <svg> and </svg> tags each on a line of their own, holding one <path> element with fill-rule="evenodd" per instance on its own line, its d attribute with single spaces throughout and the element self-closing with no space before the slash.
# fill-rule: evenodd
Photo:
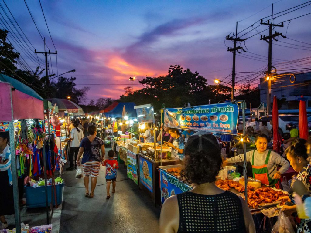
<svg viewBox="0 0 311 233">
<path fill-rule="evenodd" d="M 143 89 L 130 94 L 129 89 L 120 96 L 120 101 L 136 104 L 153 103 L 155 111 L 162 107 L 182 107 L 185 103 L 196 104 L 196 95 L 207 85 L 204 77 L 180 65 L 169 66 L 168 74 L 160 77 L 146 77 L 139 81 Z"/>
</svg>

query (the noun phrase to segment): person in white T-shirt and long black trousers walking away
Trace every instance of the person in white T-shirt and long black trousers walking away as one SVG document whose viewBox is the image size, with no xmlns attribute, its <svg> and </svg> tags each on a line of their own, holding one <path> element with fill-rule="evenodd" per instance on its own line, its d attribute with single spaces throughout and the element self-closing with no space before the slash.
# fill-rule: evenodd
<svg viewBox="0 0 311 233">
<path fill-rule="evenodd" d="M 70 165 L 68 168 L 66 168 L 67 171 L 72 171 L 72 170 L 77 169 L 77 164 L 73 164 L 73 157 L 75 157 L 75 161 L 76 161 L 78 152 L 79 152 L 79 146 L 80 146 L 82 138 L 84 137 L 82 130 L 78 128 L 79 126 L 78 121 L 74 121 L 73 126 L 75 128 L 73 128 L 70 131 L 70 138 L 65 139 L 65 141 L 71 141 L 70 149 L 69 149 L 69 164 Z"/>
</svg>

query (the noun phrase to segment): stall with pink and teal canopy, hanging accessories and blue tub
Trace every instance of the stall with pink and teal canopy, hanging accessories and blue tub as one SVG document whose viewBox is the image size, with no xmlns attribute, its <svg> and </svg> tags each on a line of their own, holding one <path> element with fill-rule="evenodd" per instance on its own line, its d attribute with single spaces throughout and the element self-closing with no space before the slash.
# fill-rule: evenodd
<svg viewBox="0 0 311 233">
<path fill-rule="evenodd" d="M 0 121 L 2 125 L 4 125 L 3 122 L 9 124 L 16 232 L 21 232 L 17 180 L 21 177 L 29 177 L 27 183 L 34 186 L 29 189 L 25 187 L 26 207 L 30 208 L 31 203 L 37 204 L 40 201 L 40 206 L 46 207 L 47 223 L 49 223 L 48 205 L 49 203 L 53 205 L 56 196 L 55 186 L 53 186 L 55 180 L 48 180 L 47 175 L 53 177 L 56 156 L 53 150 L 53 137 L 51 139 L 50 135 L 46 135 L 44 121 L 38 120 L 44 120 L 43 99 L 34 90 L 15 79 L 5 75 L 1 75 L 0 78 L 7 81 L 0 81 L 2 100 Z M 48 112 L 47 116 L 49 116 Z M 14 123 L 18 123 L 17 127 L 14 127 Z M 40 176 L 44 179 L 39 180 Z M 30 180 L 30 177 L 38 180 Z M 35 186 L 42 186 L 43 190 L 35 190 Z M 48 188 L 50 188 L 49 193 Z"/>
</svg>

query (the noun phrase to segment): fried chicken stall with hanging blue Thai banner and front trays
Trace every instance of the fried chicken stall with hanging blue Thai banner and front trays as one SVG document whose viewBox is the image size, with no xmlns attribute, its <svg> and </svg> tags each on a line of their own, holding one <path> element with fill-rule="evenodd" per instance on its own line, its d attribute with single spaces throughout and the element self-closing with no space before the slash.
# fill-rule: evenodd
<svg viewBox="0 0 311 233">
<path fill-rule="evenodd" d="M 164 122 L 166 126 L 172 128 L 236 135 L 239 107 L 242 108 L 245 125 L 244 101 L 188 108 L 167 108 L 163 110 Z M 245 128 L 243 130 L 245 134 Z M 203 134 L 201 132 L 196 134 Z M 246 144 L 243 140 L 244 136 L 242 135 L 240 138 L 244 149 L 244 177 L 248 177 L 245 169 Z M 181 171 L 179 165 L 161 166 L 159 169 L 162 203 L 171 195 L 192 189 L 191 184 L 186 184 L 179 180 Z M 246 200 L 253 215 L 256 228 L 259 229 L 261 225 L 269 224 L 269 221 L 263 221 L 265 215 L 269 215 L 267 209 L 276 207 L 279 204 L 276 200 L 279 197 L 286 196 L 287 192 L 262 185 L 260 180 L 244 179 L 244 177 L 239 176 L 240 174 L 235 172 L 234 167 L 227 167 L 227 169 L 220 171 L 216 185 L 221 189 L 240 195 Z M 275 211 L 272 210 L 272 212 Z"/>
</svg>

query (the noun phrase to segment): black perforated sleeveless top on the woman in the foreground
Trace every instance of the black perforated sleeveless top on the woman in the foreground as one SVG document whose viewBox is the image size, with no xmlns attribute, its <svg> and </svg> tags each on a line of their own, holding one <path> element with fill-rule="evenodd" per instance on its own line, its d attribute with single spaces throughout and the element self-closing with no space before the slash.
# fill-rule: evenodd
<svg viewBox="0 0 311 233">
<path fill-rule="evenodd" d="M 229 191 L 216 195 L 185 192 L 177 194 L 177 199 L 177 233 L 246 232 L 242 203 L 236 194 Z"/>
</svg>

